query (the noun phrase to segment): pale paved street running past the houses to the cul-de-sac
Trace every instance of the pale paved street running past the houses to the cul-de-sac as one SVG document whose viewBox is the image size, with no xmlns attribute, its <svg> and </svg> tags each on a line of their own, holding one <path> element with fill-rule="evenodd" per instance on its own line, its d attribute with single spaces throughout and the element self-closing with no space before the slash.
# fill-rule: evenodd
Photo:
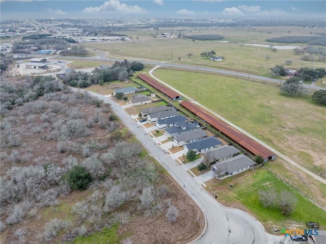
<svg viewBox="0 0 326 244">
<path fill-rule="evenodd" d="M 71 89 L 73 91 L 79 91 L 76 88 Z M 100 94 L 94 92 L 89 93 L 111 104 L 113 111 L 144 145 L 150 155 L 169 172 L 179 185 L 182 187 L 185 185 L 184 191 L 206 214 L 207 229 L 203 236 L 194 243 L 274 243 L 275 240 L 280 239 L 278 236 L 266 233 L 260 222 L 250 214 L 238 209 L 224 207 L 215 201 L 205 189 L 198 185 L 177 162 L 149 137 L 120 105 Z"/>
</svg>

